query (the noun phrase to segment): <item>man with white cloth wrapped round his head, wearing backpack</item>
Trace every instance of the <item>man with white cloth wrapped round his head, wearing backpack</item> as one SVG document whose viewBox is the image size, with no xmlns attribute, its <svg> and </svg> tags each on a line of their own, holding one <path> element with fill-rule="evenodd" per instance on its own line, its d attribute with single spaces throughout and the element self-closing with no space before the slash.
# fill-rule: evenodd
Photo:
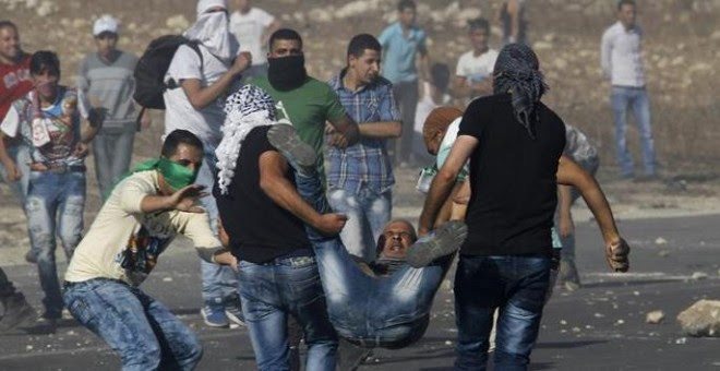
<svg viewBox="0 0 720 371">
<path fill-rule="evenodd" d="M 250 52 L 239 52 L 240 46 L 230 34 L 227 0 L 200 0 L 197 20 L 184 33 L 195 43 L 200 53 L 188 45 L 180 46 L 165 76 L 170 86 L 165 92 L 165 133 L 184 129 L 203 142 L 204 159 L 197 184 L 213 187 L 215 148 L 223 136 L 225 120 L 223 103 L 241 73 L 252 63 Z M 212 198 L 202 199 L 211 227 L 217 226 L 217 206 Z M 203 309 L 205 324 L 227 327 L 229 321 L 242 324 L 238 283 L 229 267 L 201 261 Z"/>
</svg>

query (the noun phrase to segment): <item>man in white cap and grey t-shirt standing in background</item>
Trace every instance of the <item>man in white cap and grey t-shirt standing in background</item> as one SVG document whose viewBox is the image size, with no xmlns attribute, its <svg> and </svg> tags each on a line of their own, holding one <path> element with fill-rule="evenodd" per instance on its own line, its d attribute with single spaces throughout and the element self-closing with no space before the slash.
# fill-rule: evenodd
<svg viewBox="0 0 720 371">
<path fill-rule="evenodd" d="M 119 22 L 105 14 L 93 24 L 96 51 L 88 53 L 80 65 L 77 87 L 105 116 L 103 129 L 93 140 L 95 173 L 100 195 L 106 199 L 115 183 L 130 167 L 135 139 L 135 89 L 133 71 L 137 57 L 117 49 Z M 144 111 L 141 124 L 151 123 Z"/>
</svg>

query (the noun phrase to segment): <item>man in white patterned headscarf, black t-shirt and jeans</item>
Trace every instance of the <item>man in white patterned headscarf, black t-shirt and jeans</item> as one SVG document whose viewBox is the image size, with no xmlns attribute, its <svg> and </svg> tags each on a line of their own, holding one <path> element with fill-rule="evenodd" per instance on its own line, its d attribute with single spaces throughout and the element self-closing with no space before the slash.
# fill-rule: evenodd
<svg viewBox="0 0 720 371">
<path fill-rule="evenodd" d="M 240 299 L 257 368 L 288 369 L 291 315 L 308 345 L 305 368 L 335 370 L 337 335 L 325 310 L 305 223 L 337 235 L 345 219 L 337 214 L 315 217 L 297 195 L 291 168 L 267 141 L 276 121 L 272 98 L 245 85 L 228 98 L 226 109 L 238 107 L 238 101 L 242 115 L 228 111 L 223 128 L 213 194 L 239 261 Z"/>
</svg>

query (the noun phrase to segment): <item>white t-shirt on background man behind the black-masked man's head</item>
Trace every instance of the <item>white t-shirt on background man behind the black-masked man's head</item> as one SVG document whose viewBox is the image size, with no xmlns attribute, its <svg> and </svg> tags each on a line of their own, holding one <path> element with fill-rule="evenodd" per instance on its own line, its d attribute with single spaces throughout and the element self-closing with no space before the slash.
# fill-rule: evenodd
<svg viewBox="0 0 720 371">
<path fill-rule="evenodd" d="M 267 63 L 262 37 L 274 21 L 273 15 L 257 8 L 250 8 L 248 14 L 236 11 L 230 15 L 230 32 L 240 41 L 240 50 L 250 51 L 252 55 L 252 65 Z"/>
</svg>

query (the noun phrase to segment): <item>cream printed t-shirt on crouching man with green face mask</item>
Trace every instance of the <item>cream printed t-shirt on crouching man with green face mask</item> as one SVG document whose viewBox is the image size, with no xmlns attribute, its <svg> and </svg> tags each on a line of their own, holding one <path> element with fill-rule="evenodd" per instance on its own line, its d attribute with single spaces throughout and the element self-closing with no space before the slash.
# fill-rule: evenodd
<svg viewBox="0 0 720 371">
<path fill-rule="evenodd" d="M 206 213 L 143 213 L 143 199 L 156 195 L 157 189 L 157 171 L 152 170 L 118 183 L 75 249 L 65 280 L 113 278 L 137 286 L 178 234 L 190 238 L 196 249 L 220 247 Z"/>
</svg>

